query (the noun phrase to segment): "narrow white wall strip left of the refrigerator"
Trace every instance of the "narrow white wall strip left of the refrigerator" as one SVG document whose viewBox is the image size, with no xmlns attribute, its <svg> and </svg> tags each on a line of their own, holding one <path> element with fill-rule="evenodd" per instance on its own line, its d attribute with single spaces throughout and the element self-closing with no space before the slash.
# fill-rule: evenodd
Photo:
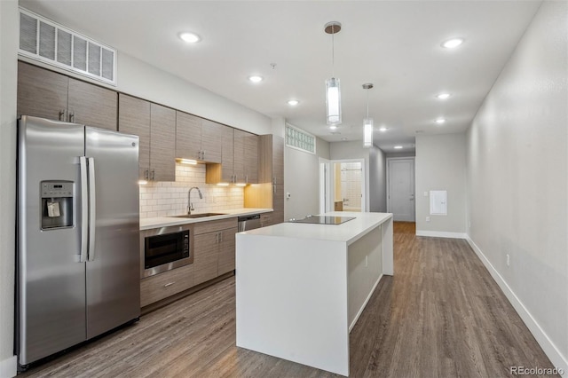
<svg viewBox="0 0 568 378">
<path fill-rule="evenodd" d="M 13 315 L 18 20 L 18 2 L 0 1 L 0 377 L 16 374 Z"/>
</svg>

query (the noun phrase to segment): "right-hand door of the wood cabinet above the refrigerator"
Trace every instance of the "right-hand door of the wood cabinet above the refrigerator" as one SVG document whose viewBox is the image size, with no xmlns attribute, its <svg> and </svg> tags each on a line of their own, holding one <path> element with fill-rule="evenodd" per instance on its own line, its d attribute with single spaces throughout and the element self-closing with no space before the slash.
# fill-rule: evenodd
<svg viewBox="0 0 568 378">
<path fill-rule="evenodd" d="M 68 96 L 70 122 L 116 131 L 115 91 L 70 77 Z"/>
</svg>

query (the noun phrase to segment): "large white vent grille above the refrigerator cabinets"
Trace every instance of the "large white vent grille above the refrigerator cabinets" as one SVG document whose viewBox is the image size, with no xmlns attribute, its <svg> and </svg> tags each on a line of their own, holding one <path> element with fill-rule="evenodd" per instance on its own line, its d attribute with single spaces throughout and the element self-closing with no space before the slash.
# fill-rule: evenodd
<svg viewBox="0 0 568 378">
<path fill-rule="evenodd" d="M 20 8 L 20 55 L 116 86 L 116 51 Z"/>
</svg>

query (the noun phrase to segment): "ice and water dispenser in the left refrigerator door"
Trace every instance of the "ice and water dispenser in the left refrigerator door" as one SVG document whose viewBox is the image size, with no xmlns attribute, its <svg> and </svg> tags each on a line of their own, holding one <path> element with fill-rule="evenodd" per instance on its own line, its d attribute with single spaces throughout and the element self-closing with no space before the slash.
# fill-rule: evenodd
<svg viewBox="0 0 568 378">
<path fill-rule="evenodd" d="M 73 226 L 73 181 L 42 181 L 42 230 Z"/>
</svg>

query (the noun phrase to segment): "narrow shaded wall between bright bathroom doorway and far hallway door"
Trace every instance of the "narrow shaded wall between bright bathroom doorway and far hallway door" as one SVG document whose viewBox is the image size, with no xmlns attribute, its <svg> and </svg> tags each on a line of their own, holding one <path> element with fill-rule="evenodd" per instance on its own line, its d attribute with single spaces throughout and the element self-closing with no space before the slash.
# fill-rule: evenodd
<svg viewBox="0 0 568 378">
<path fill-rule="evenodd" d="M 387 160 L 383 150 L 369 148 L 369 211 L 387 211 Z"/>
</svg>

